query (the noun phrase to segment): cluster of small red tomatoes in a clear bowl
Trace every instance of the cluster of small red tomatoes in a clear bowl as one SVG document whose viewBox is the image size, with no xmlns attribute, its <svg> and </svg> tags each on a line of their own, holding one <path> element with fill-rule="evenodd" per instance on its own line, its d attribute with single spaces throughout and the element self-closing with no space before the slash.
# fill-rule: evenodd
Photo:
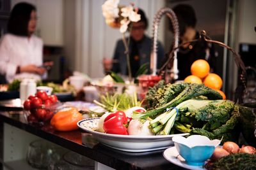
<svg viewBox="0 0 256 170">
<path fill-rule="evenodd" d="M 24 109 L 30 111 L 28 122 L 47 122 L 51 120 L 54 113 L 49 110 L 49 106 L 58 101 L 55 95 L 48 96 L 44 91 L 38 91 L 35 95 L 31 95 L 24 101 Z"/>
</svg>

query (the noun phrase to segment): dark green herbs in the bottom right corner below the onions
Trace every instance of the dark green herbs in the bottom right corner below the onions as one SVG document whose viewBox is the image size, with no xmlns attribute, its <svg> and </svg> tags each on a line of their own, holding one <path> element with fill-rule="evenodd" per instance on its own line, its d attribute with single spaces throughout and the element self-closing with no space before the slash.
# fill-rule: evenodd
<svg viewBox="0 0 256 170">
<path fill-rule="evenodd" d="M 211 170 L 253 170 L 256 169 L 256 154 L 230 154 L 214 163 L 206 164 L 205 167 Z"/>
</svg>

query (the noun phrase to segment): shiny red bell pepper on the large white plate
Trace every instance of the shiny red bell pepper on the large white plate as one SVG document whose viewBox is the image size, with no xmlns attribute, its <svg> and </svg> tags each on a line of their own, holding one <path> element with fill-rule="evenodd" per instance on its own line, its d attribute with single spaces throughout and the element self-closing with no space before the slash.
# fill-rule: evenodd
<svg viewBox="0 0 256 170">
<path fill-rule="evenodd" d="M 116 111 L 104 119 L 103 129 L 108 134 L 128 134 L 126 124 L 127 117 L 124 111 Z"/>
</svg>

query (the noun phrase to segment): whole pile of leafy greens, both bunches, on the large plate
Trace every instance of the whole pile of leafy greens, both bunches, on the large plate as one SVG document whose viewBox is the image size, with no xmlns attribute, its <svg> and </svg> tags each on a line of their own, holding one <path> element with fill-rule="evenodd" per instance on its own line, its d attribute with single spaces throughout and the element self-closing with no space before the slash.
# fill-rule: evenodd
<svg viewBox="0 0 256 170">
<path fill-rule="evenodd" d="M 150 120 L 155 134 L 189 132 L 210 139 L 234 141 L 239 122 L 238 108 L 232 101 L 221 100 L 216 90 L 202 84 L 174 83 L 164 85 L 160 81 L 149 90 L 145 113 L 134 113 L 134 119 Z"/>
</svg>

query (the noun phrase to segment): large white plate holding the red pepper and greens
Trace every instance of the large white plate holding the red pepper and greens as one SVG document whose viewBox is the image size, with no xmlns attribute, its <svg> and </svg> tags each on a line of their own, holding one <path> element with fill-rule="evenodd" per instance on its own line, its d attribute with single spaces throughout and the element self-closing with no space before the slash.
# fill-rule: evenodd
<svg viewBox="0 0 256 170">
<path fill-rule="evenodd" d="M 158 135 L 158 136 L 134 136 L 120 134 L 105 134 L 95 131 L 99 118 L 86 118 L 77 122 L 77 125 L 86 132 L 90 132 L 103 145 L 126 152 L 147 152 L 160 150 L 173 146 L 173 136 L 186 136 L 184 134 Z"/>
</svg>

